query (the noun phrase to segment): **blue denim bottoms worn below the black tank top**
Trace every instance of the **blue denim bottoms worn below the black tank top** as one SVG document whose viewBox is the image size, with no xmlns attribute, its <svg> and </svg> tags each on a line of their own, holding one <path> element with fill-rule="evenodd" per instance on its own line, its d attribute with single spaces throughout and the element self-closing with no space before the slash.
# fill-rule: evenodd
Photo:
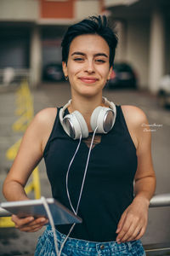
<svg viewBox="0 0 170 256">
<path fill-rule="evenodd" d="M 56 230 L 58 247 L 65 240 L 65 235 Z M 56 256 L 54 236 L 51 226 L 39 237 L 35 256 Z M 118 244 L 116 241 L 95 242 L 68 238 L 62 249 L 61 256 L 145 256 L 140 240 Z"/>
</svg>

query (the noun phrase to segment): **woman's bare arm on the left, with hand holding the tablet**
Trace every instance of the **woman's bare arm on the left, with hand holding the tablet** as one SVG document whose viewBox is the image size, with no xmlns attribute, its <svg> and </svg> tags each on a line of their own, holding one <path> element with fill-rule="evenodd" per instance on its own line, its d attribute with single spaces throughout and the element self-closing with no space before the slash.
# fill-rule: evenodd
<svg viewBox="0 0 170 256">
<path fill-rule="evenodd" d="M 24 187 L 31 172 L 42 159 L 43 148 L 53 128 L 56 111 L 56 108 L 43 109 L 37 113 L 27 128 L 13 166 L 3 183 L 3 195 L 7 201 L 29 200 Z M 33 218 L 12 216 L 12 220 L 20 230 L 36 231 L 46 223 L 44 218 L 37 218 L 33 222 L 30 219 Z M 26 226 L 28 223 L 29 227 Z"/>
</svg>

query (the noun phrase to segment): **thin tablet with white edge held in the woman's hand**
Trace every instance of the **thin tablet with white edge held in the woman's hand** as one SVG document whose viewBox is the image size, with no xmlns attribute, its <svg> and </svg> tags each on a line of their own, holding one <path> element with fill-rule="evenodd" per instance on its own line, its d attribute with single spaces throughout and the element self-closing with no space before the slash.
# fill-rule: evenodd
<svg viewBox="0 0 170 256">
<path fill-rule="evenodd" d="M 72 224 L 82 223 L 82 218 L 79 218 L 68 208 L 63 206 L 59 201 L 54 198 L 47 198 L 48 207 L 54 218 L 54 224 Z M 41 199 L 26 200 L 26 201 L 7 201 L 2 202 L 0 207 L 4 208 L 8 212 L 17 215 L 20 218 L 28 216 L 34 216 L 34 218 L 45 217 L 48 218 L 48 214 L 42 204 Z"/>
</svg>

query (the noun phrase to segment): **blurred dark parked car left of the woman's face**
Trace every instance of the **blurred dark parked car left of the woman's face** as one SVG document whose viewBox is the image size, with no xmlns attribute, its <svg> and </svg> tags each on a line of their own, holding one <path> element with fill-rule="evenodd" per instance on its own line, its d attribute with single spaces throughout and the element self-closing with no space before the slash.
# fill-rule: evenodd
<svg viewBox="0 0 170 256">
<path fill-rule="evenodd" d="M 54 63 L 54 62 L 48 63 L 48 65 L 46 65 L 43 68 L 42 76 L 44 80 L 49 80 L 49 81 L 65 80 L 62 65 L 60 63 Z"/>
</svg>

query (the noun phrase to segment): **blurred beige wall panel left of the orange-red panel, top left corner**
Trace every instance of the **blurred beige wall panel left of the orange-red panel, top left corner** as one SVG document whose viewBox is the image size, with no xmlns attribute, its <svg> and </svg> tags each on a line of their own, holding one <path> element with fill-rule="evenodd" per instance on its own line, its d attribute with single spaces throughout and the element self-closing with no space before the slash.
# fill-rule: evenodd
<svg viewBox="0 0 170 256">
<path fill-rule="evenodd" d="M 0 20 L 37 20 L 37 0 L 0 0 Z"/>
</svg>

